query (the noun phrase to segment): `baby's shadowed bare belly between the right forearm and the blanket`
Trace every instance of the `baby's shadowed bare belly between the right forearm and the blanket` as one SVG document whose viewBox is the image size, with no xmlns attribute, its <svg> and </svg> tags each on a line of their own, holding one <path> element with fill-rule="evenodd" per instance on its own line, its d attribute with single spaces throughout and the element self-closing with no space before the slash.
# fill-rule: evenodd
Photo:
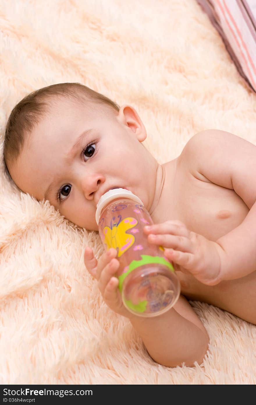
<svg viewBox="0 0 256 405">
<path fill-rule="evenodd" d="M 256 325 L 256 271 L 236 280 L 205 286 L 193 276 L 177 272 L 181 291 L 188 300 L 214 305 Z"/>
</svg>

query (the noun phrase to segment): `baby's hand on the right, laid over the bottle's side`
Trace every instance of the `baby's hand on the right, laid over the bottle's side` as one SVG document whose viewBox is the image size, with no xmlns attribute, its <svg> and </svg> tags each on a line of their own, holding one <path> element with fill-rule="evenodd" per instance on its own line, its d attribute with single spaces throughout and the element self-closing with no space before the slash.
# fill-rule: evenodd
<svg viewBox="0 0 256 405">
<path fill-rule="evenodd" d="M 164 254 L 176 270 L 192 274 L 208 286 L 221 281 L 220 257 L 222 247 L 203 235 L 190 232 L 180 221 L 166 221 L 144 227 L 148 242 L 165 248 Z"/>
</svg>

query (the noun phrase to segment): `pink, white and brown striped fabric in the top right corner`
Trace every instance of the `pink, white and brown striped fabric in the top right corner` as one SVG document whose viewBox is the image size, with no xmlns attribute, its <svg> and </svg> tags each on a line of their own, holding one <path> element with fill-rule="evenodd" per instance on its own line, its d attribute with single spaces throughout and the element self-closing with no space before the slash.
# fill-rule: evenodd
<svg viewBox="0 0 256 405">
<path fill-rule="evenodd" d="M 241 76 L 256 92 L 256 0 L 197 0 Z"/>
</svg>

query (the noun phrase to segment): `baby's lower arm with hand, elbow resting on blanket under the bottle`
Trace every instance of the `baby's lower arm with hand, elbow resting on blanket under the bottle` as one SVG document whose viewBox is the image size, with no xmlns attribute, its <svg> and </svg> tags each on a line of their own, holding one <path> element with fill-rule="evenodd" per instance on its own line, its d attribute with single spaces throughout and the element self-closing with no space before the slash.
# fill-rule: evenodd
<svg viewBox="0 0 256 405">
<path fill-rule="evenodd" d="M 209 337 L 186 298 L 180 296 L 176 305 L 163 315 L 142 318 L 131 314 L 123 306 L 118 290 L 118 279 L 114 277 L 119 262 L 116 249 L 109 249 L 97 262 L 93 251 L 85 250 L 85 266 L 98 280 L 99 290 L 106 304 L 116 313 L 129 318 L 142 338 L 148 353 L 156 362 L 167 366 L 193 367 L 203 361 L 208 348 Z"/>
</svg>

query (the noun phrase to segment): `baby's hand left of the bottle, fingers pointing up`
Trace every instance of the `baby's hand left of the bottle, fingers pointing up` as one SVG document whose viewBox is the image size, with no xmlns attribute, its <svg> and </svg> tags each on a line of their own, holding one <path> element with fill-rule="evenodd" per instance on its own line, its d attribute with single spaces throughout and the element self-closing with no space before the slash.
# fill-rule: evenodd
<svg viewBox="0 0 256 405">
<path fill-rule="evenodd" d="M 123 305 L 118 289 L 118 278 L 114 277 L 119 267 L 119 262 L 115 259 L 116 254 L 116 249 L 112 247 L 107 252 L 104 252 L 99 261 L 97 261 L 93 250 L 87 246 L 84 256 L 85 267 L 98 280 L 99 291 L 108 307 L 120 315 L 131 318 L 131 312 Z"/>
</svg>

